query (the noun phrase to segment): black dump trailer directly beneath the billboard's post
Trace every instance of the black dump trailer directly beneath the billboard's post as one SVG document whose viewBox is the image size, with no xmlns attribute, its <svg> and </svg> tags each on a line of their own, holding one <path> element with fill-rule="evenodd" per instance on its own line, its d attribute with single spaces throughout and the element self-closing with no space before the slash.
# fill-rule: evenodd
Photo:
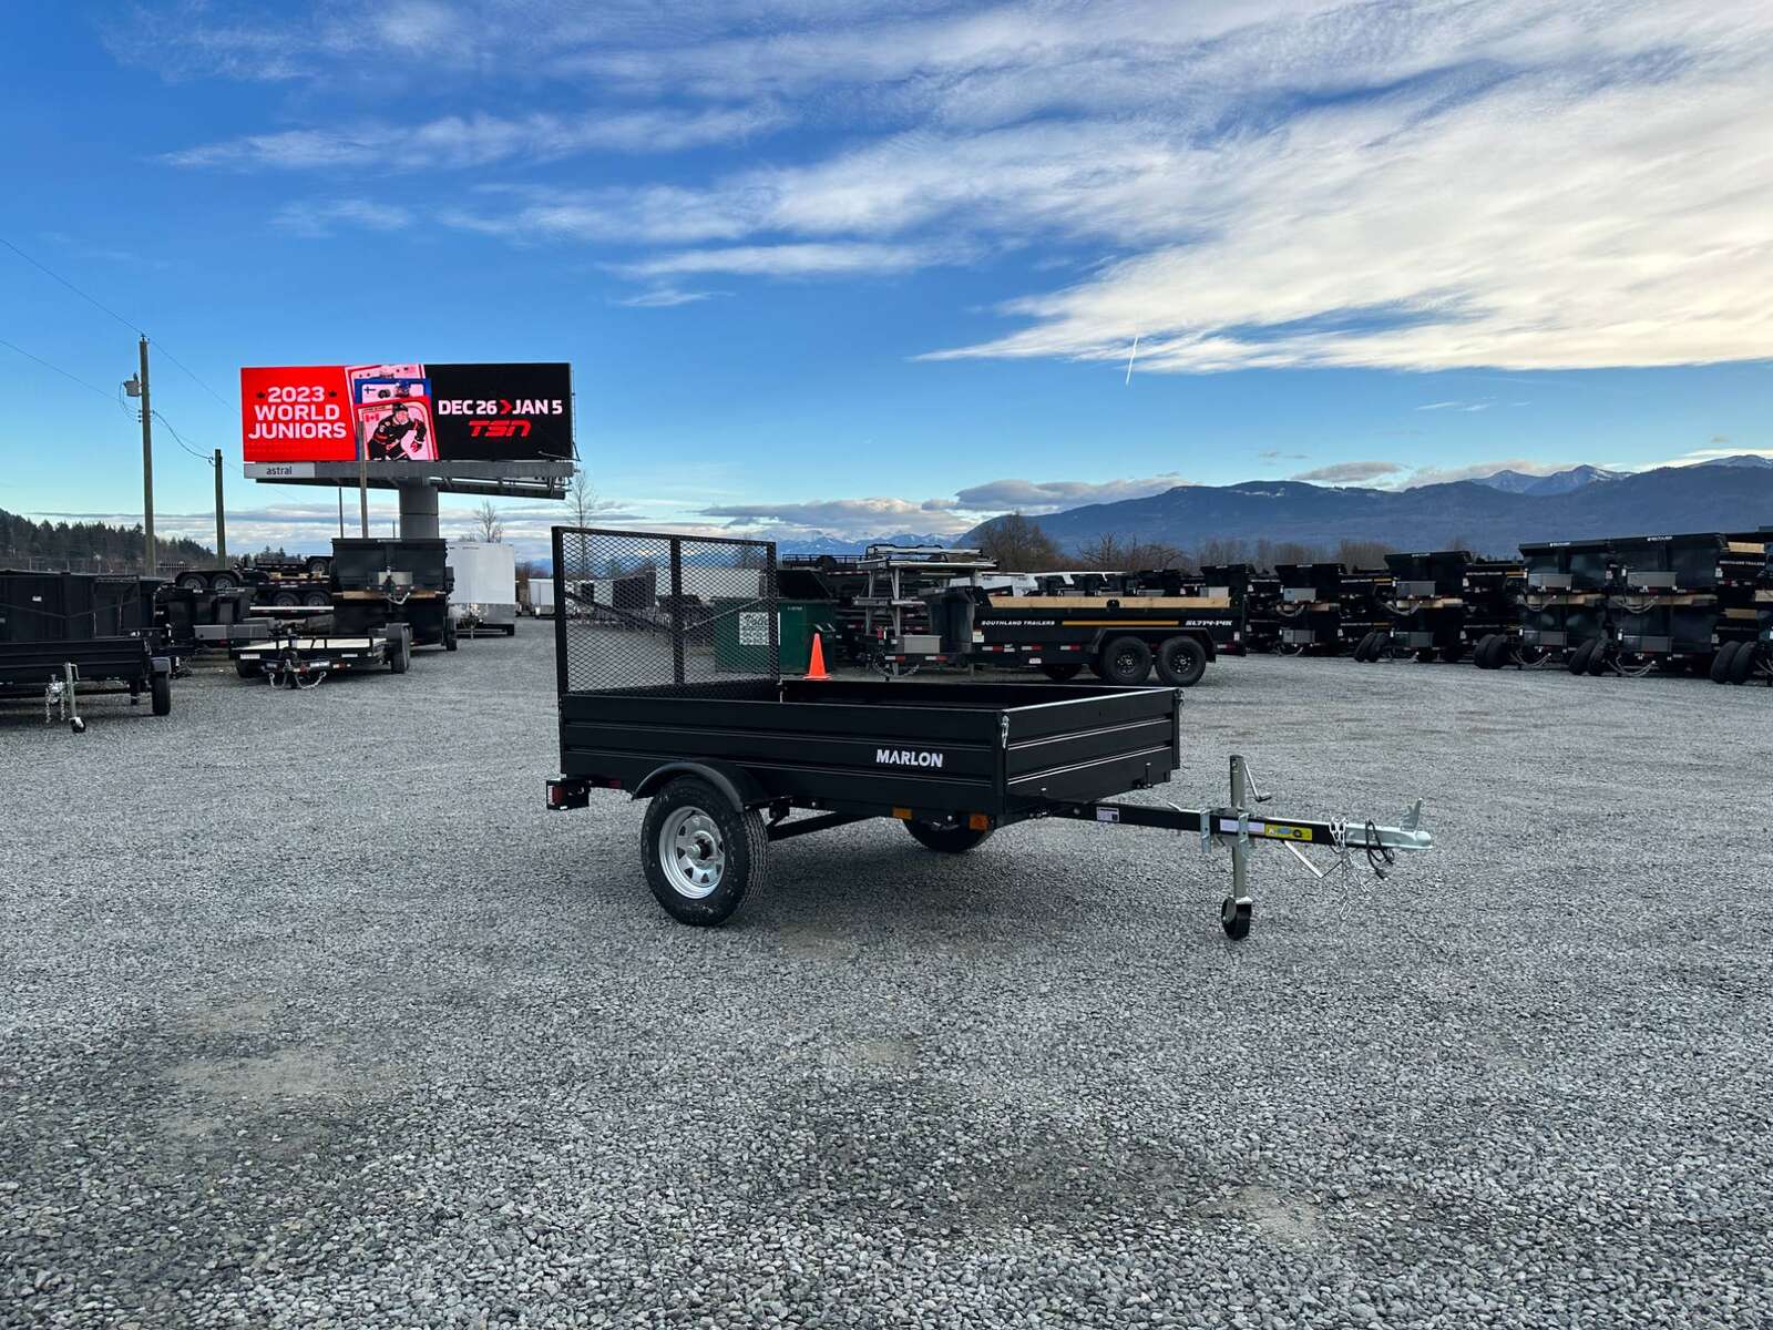
<svg viewBox="0 0 1773 1330">
<path fill-rule="evenodd" d="M 454 587 L 449 546 L 440 539 L 333 541 L 333 633 L 342 638 L 387 637 L 392 624 L 406 624 L 411 645 L 454 651 Z"/>
</svg>

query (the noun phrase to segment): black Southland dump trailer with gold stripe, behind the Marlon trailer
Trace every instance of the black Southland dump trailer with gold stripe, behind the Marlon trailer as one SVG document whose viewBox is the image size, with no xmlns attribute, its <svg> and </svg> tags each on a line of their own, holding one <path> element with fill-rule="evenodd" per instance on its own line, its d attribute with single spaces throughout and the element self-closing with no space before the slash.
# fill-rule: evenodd
<svg viewBox="0 0 1773 1330">
<path fill-rule="evenodd" d="M 1172 688 L 1200 683 L 1234 631 L 1229 596 L 1193 587 L 1089 594 L 1004 596 L 949 587 L 931 598 L 941 649 L 982 665 L 1027 665 L 1055 683 L 1085 667 L 1105 683 L 1144 683 L 1156 670 Z"/>
</svg>

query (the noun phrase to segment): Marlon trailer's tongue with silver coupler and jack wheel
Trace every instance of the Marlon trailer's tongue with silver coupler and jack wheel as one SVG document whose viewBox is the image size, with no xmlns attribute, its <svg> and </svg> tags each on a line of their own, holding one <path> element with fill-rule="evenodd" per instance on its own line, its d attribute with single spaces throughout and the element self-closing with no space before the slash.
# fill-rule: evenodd
<svg viewBox="0 0 1773 1330">
<path fill-rule="evenodd" d="M 1112 823 L 1124 826 L 1156 826 L 1200 837 L 1200 849 L 1230 848 L 1230 896 L 1220 906 L 1220 926 L 1229 938 L 1250 933 L 1255 901 L 1250 896 L 1250 849 L 1262 841 L 1284 846 L 1317 880 L 1333 872 L 1353 872 L 1355 855 L 1363 853 L 1367 865 L 1381 881 L 1390 874 L 1402 851 L 1431 849 L 1434 837 L 1422 830 L 1422 800 L 1417 800 L 1397 826 L 1379 826 L 1365 819 L 1335 818 L 1269 818 L 1252 810 L 1252 803 L 1266 803 L 1268 794 L 1255 787 L 1250 764 L 1230 759 L 1230 803 L 1223 809 L 1179 809 L 1174 803 L 1154 807 L 1147 803 L 1066 803 L 1053 810 L 1057 818 Z M 1328 846 L 1333 858 L 1328 867 L 1317 867 L 1305 848 Z"/>
</svg>

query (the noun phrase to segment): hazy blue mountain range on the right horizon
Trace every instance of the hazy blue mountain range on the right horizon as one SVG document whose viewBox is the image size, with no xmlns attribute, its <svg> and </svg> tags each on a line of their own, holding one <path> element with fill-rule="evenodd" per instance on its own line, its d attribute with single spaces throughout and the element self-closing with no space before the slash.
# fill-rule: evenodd
<svg viewBox="0 0 1773 1330">
<path fill-rule="evenodd" d="M 1183 550 L 1213 539 L 1293 541 L 1316 548 L 1383 541 L 1399 550 L 1466 548 L 1509 555 L 1521 541 L 1752 532 L 1773 525 L 1773 459 L 1741 454 L 1636 473 L 1597 466 L 1543 477 L 1498 472 L 1413 489 L 1330 488 L 1303 481 L 1197 484 L 1050 512 L 1035 521 L 1067 550 L 1112 534 Z M 989 525 L 980 523 L 963 543 L 975 543 Z"/>
</svg>

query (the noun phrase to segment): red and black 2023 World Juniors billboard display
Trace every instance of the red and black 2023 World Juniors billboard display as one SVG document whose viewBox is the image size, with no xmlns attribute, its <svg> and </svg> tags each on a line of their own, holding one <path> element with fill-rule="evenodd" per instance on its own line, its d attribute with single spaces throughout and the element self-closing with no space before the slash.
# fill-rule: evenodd
<svg viewBox="0 0 1773 1330">
<path fill-rule="evenodd" d="M 573 367 L 246 367 L 239 415 L 246 463 L 569 461 Z"/>
</svg>

